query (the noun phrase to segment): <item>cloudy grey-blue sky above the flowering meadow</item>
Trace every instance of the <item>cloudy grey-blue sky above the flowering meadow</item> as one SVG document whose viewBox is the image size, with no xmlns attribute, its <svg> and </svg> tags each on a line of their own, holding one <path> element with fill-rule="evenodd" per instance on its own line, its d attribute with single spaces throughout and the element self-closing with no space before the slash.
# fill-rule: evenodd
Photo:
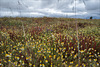
<svg viewBox="0 0 100 67">
<path fill-rule="evenodd" d="M 0 0 L 0 17 L 100 19 L 100 0 Z"/>
</svg>

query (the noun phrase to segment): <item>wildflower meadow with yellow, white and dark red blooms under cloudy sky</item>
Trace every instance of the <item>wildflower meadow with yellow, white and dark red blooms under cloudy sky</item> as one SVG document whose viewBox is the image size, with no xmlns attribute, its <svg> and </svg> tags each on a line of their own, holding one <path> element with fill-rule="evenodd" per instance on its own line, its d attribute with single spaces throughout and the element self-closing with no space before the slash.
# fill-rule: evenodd
<svg viewBox="0 0 100 67">
<path fill-rule="evenodd" d="M 77 19 L 80 67 L 100 67 L 100 19 Z M 0 66 L 78 67 L 75 19 L 0 18 Z"/>
</svg>

